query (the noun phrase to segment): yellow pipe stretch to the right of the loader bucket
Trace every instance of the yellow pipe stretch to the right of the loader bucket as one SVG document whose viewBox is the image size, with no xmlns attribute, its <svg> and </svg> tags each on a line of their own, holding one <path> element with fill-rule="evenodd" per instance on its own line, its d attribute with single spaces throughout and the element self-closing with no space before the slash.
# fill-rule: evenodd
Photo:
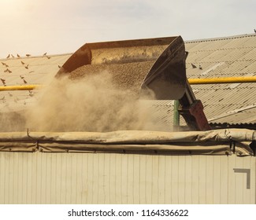
<svg viewBox="0 0 256 220">
<path fill-rule="evenodd" d="M 195 84 L 219 84 L 219 83 L 256 83 L 255 76 L 242 77 L 222 77 L 222 78 L 204 78 L 204 79 L 188 79 L 188 83 Z"/>
</svg>

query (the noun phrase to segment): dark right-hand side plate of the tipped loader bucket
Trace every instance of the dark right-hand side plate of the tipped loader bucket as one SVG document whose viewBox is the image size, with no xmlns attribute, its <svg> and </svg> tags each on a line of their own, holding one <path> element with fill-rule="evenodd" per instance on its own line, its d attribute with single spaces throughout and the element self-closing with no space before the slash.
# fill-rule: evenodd
<svg viewBox="0 0 256 220">
<path fill-rule="evenodd" d="M 141 86 L 141 93 L 153 90 L 158 100 L 179 100 L 186 89 L 186 52 L 179 36 L 161 53 Z M 143 96 L 145 97 L 145 96 Z"/>
</svg>

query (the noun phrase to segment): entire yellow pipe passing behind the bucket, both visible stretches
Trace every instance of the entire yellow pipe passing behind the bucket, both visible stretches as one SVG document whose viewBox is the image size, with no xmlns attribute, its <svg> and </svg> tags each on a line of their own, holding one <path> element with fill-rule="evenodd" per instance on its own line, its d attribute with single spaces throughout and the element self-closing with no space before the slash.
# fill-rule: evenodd
<svg viewBox="0 0 256 220">
<path fill-rule="evenodd" d="M 219 83 L 256 83 L 256 76 L 188 79 L 188 83 L 191 85 Z M 0 86 L 0 91 L 35 90 L 41 89 L 42 87 L 43 85 Z"/>
</svg>

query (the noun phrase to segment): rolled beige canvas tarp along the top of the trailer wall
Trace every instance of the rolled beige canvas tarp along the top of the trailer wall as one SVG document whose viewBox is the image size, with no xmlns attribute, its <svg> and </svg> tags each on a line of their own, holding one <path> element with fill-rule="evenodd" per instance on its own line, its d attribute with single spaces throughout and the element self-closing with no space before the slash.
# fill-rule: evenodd
<svg viewBox="0 0 256 220">
<path fill-rule="evenodd" d="M 161 132 L 118 130 L 95 132 L 0 133 L 0 151 L 20 152 L 121 152 L 164 154 L 253 155 L 250 143 L 256 131 L 224 129 Z"/>
</svg>

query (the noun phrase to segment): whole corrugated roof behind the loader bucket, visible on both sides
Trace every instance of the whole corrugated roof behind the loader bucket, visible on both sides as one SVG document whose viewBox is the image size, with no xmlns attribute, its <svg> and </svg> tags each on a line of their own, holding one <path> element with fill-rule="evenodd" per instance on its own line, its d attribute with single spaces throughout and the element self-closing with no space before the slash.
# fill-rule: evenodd
<svg viewBox="0 0 256 220">
<path fill-rule="evenodd" d="M 187 41 L 185 46 L 189 52 L 187 78 L 256 75 L 256 35 Z M 21 77 L 28 84 L 45 84 L 58 72 L 58 65 L 64 64 L 70 56 L 61 54 L 50 56 L 50 59 L 48 56 L 2 59 L 1 79 L 6 80 L 6 86 L 26 84 Z M 25 68 L 27 64 L 28 68 Z M 192 68 L 191 64 L 197 67 L 200 65 L 202 69 Z M 11 72 L 6 72 L 7 68 Z M 256 123 L 256 108 L 247 109 L 256 105 L 255 83 L 192 85 L 192 89 L 196 98 L 202 101 L 210 123 Z M 35 99 L 36 96 L 28 91 L 1 92 L 0 111 L 24 109 Z M 152 115 L 160 122 L 158 129 L 172 130 L 173 101 L 156 101 L 152 106 Z M 184 119 L 180 121 L 182 125 L 185 124 Z"/>
</svg>

